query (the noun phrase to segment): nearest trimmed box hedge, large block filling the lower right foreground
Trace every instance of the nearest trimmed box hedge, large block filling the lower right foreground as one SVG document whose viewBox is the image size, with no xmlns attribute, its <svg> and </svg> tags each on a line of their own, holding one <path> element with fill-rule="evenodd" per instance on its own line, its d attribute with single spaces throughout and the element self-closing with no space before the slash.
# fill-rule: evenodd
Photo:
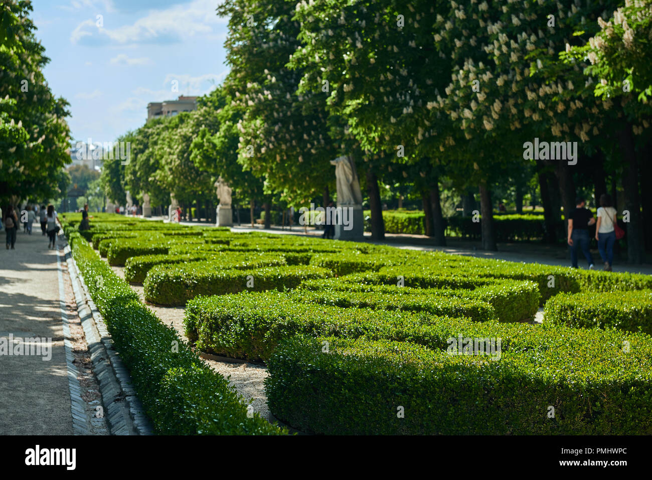
<svg viewBox="0 0 652 480">
<path fill-rule="evenodd" d="M 652 433 L 647 335 L 522 324 L 505 348 L 507 324 L 496 325 L 448 335 L 503 337 L 497 360 L 412 342 L 286 338 L 267 360 L 268 404 L 318 434 Z"/>
</svg>

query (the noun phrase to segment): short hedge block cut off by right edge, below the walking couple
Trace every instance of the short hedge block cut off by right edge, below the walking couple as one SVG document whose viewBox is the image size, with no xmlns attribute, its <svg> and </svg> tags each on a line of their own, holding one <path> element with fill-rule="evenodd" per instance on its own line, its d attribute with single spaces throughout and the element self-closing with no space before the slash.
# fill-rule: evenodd
<svg viewBox="0 0 652 480">
<path fill-rule="evenodd" d="M 572 327 L 640 330 L 652 335 L 652 292 L 557 295 L 546 302 L 544 320 Z"/>
</svg>

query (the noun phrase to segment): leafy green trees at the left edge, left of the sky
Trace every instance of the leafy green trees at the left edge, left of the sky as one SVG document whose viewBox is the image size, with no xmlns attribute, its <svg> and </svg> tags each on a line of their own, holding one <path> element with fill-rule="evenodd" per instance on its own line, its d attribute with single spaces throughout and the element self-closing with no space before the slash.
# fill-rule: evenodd
<svg viewBox="0 0 652 480">
<path fill-rule="evenodd" d="M 42 69 L 29 1 L 0 4 L 0 204 L 59 198 L 68 184 L 68 102 L 55 98 Z"/>
</svg>

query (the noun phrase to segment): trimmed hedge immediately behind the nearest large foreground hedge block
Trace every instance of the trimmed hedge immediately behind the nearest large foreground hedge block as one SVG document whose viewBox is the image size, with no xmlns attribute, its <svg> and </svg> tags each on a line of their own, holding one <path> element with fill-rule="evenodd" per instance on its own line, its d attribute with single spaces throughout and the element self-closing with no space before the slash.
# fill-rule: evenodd
<svg viewBox="0 0 652 480">
<path fill-rule="evenodd" d="M 243 292 L 188 301 L 186 335 L 200 350 L 267 360 L 283 338 L 297 333 L 338 337 L 390 338 L 444 346 L 446 325 L 476 323 L 467 318 L 369 308 L 338 308 L 293 301 L 286 292 Z M 482 323 L 481 323 L 482 324 Z"/>
</svg>

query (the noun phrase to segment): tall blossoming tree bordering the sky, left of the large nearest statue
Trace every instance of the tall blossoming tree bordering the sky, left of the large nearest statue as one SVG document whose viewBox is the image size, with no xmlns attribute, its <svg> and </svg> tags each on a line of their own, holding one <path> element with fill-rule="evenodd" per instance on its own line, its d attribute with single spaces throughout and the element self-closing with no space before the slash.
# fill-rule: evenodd
<svg viewBox="0 0 652 480">
<path fill-rule="evenodd" d="M 323 100 L 297 93 L 301 72 L 286 67 L 299 48 L 293 5 L 229 0 L 218 14 L 229 17 L 225 45 L 231 71 L 224 89 L 241 113 L 235 124 L 238 162 L 265 178 L 265 194 L 280 193 L 295 205 L 308 202 L 334 185 L 329 160 L 338 149 L 329 137 Z"/>
</svg>

